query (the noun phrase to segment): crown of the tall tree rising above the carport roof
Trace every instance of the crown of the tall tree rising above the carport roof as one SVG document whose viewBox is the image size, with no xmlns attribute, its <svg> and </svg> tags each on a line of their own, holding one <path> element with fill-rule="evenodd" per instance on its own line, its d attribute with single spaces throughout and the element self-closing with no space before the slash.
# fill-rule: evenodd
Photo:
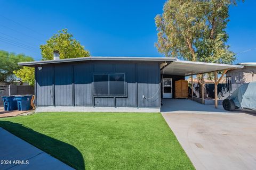
<svg viewBox="0 0 256 170">
<path fill-rule="evenodd" d="M 158 51 L 188 61 L 231 64 L 228 9 L 235 0 L 169 0 L 155 18 Z"/>
</svg>

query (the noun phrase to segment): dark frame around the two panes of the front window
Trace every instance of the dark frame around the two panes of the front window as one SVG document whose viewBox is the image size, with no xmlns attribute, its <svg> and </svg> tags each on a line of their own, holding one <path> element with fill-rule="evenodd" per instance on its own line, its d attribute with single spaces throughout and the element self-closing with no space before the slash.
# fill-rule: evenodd
<svg viewBox="0 0 256 170">
<path fill-rule="evenodd" d="M 94 75 L 102 75 L 102 74 L 107 74 L 108 75 L 108 95 L 96 95 L 94 94 Z M 110 74 L 123 74 L 124 75 L 124 95 L 110 95 L 110 86 L 109 86 L 109 80 L 110 80 Z M 127 81 L 126 81 L 126 73 L 93 73 L 92 74 L 92 94 L 93 97 L 127 97 Z"/>
</svg>

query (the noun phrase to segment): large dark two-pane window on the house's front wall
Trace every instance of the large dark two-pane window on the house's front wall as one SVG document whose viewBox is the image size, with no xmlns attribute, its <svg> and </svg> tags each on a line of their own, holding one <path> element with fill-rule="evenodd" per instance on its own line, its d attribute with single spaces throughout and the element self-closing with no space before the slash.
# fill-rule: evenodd
<svg viewBox="0 0 256 170">
<path fill-rule="evenodd" d="M 126 96 L 124 73 L 93 74 L 94 96 Z"/>
</svg>

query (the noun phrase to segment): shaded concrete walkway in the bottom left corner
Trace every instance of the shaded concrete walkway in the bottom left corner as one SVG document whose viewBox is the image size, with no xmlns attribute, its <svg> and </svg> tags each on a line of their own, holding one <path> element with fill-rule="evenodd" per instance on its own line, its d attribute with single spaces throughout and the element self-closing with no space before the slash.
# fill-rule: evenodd
<svg viewBox="0 0 256 170">
<path fill-rule="evenodd" d="M 73 169 L 3 128 L 0 128 L 0 161 L 0 169 Z"/>
</svg>

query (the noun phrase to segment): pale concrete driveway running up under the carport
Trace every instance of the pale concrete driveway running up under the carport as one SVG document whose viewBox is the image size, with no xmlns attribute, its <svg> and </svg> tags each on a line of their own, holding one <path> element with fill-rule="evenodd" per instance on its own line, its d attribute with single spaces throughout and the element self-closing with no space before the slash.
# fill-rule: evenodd
<svg viewBox="0 0 256 170">
<path fill-rule="evenodd" d="M 162 111 L 196 169 L 256 168 L 256 114 L 191 100 L 166 100 Z"/>
</svg>

